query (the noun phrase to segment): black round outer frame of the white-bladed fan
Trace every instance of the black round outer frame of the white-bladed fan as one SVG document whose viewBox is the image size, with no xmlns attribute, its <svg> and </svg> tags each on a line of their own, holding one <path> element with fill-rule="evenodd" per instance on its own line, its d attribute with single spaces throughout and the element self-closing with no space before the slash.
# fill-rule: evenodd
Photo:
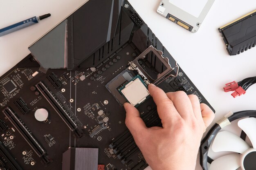
<svg viewBox="0 0 256 170">
<path fill-rule="evenodd" d="M 256 110 L 244 110 L 234 113 L 234 115 L 228 117 L 229 122 L 232 122 L 236 119 L 245 118 L 245 117 L 256 117 Z M 209 130 L 207 135 L 202 139 L 201 145 L 200 145 L 200 165 L 202 166 L 203 170 L 209 170 L 208 169 L 208 163 L 211 163 L 213 159 L 208 157 L 208 151 L 210 148 L 211 143 L 213 142 L 213 139 L 216 137 L 218 132 L 222 128 L 219 124 L 214 124 L 213 127 Z M 240 137 L 245 140 L 246 134 L 242 130 Z"/>
</svg>

